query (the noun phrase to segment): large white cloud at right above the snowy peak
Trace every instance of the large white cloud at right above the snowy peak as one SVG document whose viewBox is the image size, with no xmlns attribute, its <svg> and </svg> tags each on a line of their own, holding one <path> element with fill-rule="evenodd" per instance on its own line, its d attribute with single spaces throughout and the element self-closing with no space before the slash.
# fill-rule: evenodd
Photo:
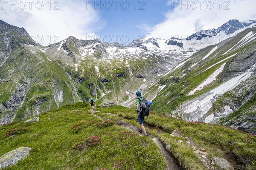
<svg viewBox="0 0 256 170">
<path fill-rule="evenodd" d="M 150 37 L 170 38 L 178 35 L 186 38 L 200 29 L 218 28 L 228 20 L 239 21 L 255 20 L 256 1 L 230 0 L 230 1 L 168 1 L 170 6 L 164 21 L 151 28 L 145 28 Z M 171 9 L 173 8 L 173 9 Z"/>
</svg>

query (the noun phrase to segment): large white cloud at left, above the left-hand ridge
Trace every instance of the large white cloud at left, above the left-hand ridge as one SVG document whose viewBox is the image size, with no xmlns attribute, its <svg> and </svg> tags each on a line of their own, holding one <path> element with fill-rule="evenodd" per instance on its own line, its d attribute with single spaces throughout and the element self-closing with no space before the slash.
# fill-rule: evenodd
<svg viewBox="0 0 256 170">
<path fill-rule="evenodd" d="M 41 42 L 41 45 L 49 45 L 69 36 L 86 40 L 87 34 L 94 35 L 93 32 L 104 26 L 99 13 L 86 6 L 86 2 L 82 0 L 33 1 L 34 3 L 23 1 L 23 4 L 19 4 L 19 1 L 6 2 L 7 5 L 1 2 L 0 19 L 25 28 L 34 40 L 37 37 L 36 42 Z M 14 5 L 10 6 L 10 3 Z"/>
</svg>

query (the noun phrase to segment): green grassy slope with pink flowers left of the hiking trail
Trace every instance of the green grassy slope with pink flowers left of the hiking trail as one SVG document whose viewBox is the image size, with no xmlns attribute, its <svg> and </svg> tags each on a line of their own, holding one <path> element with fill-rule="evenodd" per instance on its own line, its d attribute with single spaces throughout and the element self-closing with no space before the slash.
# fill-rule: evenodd
<svg viewBox="0 0 256 170">
<path fill-rule="evenodd" d="M 0 155 L 21 146 L 33 148 L 24 161 L 7 169 L 109 170 L 116 164 L 119 169 L 127 170 L 165 169 L 160 150 L 151 139 L 127 131 L 112 121 L 101 121 L 89 114 L 89 108 L 83 102 L 66 105 L 38 115 L 39 122 L 23 124 L 21 121 L 0 127 L 1 130 L 7 128 L 0 131 Z M 3 141 L 4 134 L 17 127 L 28 132 Z M 100 144 L 85 145 L 83 142 L 88 142 L 92 136 L 101 137 Z M 75 143 L 82 144 L 83 149 Z"/>
</svg>

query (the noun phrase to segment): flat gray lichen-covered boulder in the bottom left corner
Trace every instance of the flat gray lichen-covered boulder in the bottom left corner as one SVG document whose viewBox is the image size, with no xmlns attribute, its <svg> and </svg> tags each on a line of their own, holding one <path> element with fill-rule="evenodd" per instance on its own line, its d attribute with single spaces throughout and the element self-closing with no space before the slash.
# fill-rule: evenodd
<svg viewBox="0 0 256 170">
<path fill-rule="evenodd" d="M 0 157 L 0 169 L 17 164 L 19 160 L 25 159 L 29 156 L 30 150 L 32 150 L 31 147 L 19 147 L 4 154 Z"/>
</svg>

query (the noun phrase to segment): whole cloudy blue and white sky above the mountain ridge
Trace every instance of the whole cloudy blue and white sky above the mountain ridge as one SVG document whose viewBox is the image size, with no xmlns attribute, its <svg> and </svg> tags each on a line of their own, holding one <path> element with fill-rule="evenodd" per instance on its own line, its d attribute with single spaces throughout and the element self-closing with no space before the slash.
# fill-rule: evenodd
<svg viewBox="0 0 256 170">
<path fill-rule="evenodd" d="M 231 19 L 256 20 L 256 1 L 0 0 L 0 20 L 44 46 L 70 36 L 125 45 L 145 36 L 186 38 Z"/>
</svg>

